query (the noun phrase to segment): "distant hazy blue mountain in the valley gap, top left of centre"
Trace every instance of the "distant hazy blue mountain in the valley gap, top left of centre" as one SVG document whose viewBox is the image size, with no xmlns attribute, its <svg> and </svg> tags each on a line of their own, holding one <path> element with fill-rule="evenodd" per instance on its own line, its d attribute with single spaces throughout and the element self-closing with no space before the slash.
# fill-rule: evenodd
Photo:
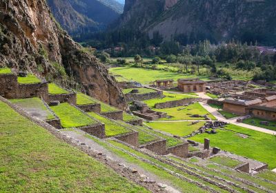
<svg viewBox="0 0 276 193">
<path fill-rule="evenodd" d="M 47 0 L 55 19 L 72 36 L 103 30 L 118 19 L 124 5 L 115 0 Z"/>
</svg>

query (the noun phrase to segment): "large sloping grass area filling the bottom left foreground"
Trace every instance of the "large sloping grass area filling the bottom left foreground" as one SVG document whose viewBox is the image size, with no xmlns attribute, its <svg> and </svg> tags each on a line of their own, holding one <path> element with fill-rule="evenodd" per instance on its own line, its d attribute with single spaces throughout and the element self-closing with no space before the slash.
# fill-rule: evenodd
<svg viewBox="0 0 276 193">
<path fill-rule="evenodd" d="M 0 102 L 0 192 L 147 192 Z"/>
</svg>

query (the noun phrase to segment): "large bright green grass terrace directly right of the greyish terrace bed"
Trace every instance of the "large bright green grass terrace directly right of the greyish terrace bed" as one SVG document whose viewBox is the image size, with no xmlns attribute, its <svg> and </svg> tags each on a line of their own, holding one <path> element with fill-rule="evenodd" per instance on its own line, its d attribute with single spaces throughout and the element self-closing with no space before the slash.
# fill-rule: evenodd
<svg viewBox="0 0 276 193">
<path fill-rule="evenodd" d="M 68 103 L 61 103 L 50 107 L 61 120 L 62 128 L 75 128 L 97 123 L 83 112 L 72 107 Z"/>
</svg>

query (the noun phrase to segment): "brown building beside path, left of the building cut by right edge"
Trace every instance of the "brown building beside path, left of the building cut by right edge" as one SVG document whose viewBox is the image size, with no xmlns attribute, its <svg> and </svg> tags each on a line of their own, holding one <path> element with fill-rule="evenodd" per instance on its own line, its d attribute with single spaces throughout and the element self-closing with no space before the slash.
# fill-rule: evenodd
<svg viewBox="0 0 276 193">
<path fill-rule="evenodd" d="M 246 100 L 237 100 L 237 99 L 225 99 L 224 103 L 224 111 L 232 112 L 235 114 L 248 114 L 248 108 L 253 105 L 259 105 L 262 103 L 261 99 L 254 99 L 251 101 Z"/>
</svg>

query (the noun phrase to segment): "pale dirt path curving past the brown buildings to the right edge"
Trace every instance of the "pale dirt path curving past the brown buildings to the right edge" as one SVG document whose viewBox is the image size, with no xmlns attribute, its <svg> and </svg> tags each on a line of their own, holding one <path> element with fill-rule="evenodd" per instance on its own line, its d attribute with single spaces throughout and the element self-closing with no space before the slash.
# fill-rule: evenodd
<svg viewBox="0 0 276 193">
<path fill-rule="evenodd" d="M 207 103 L 202 103 L 202 102 L 199 102 L 208 112 L 210 112 L 211 114 L 213 114 L 215 116 L 215 118 L 217 118 L 217 120 L 219 121 L 224 121 L 226 123 L 231 123 L 233 125 L 238 125 L 238 126 L 241 126 L 241 127 L 244 127 L 244 128 L 248 128 L 250 130 L 256 130 L 258 132 L 264 132 L 264 133 L 267 133 L 267 134 L 273 134 L 275 135 L 276 134 L 276 131 L 273 131 L 273 130 L 268 130 L 268 129 L 265 129 L 265 128 L 259 128 L 259 127 L 256 127 L 254 125 L 248 125 L 248 124 L 245 124 L 245 123 L 238 123 L 237 122 L 237 119 L 241 119 L 241 118 L 244 118 L 244 116 L 237 116 L 233 119 L 226 119 L 224 116 L 222 116 L 219 112 L 217 112 L 217 109 L 216 108 L 212 108 L 210 105 L 208 105 Z"/>
</svg>

